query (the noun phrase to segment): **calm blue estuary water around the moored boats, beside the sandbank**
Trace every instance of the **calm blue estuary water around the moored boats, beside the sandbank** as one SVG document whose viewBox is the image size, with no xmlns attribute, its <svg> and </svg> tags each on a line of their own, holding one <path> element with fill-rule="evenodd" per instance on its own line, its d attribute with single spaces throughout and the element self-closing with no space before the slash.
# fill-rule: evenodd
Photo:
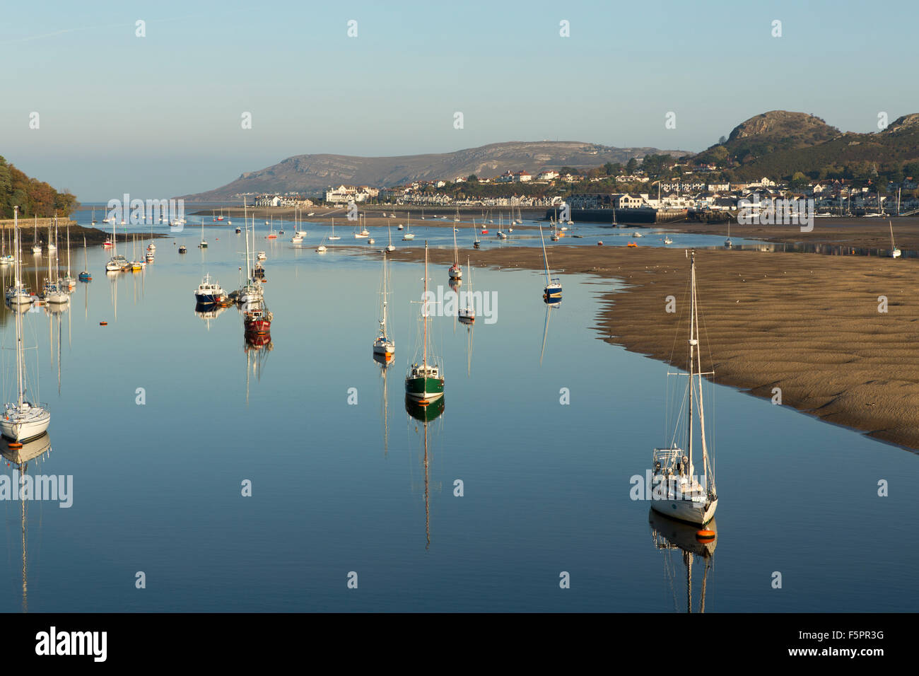
<svg viewBox="0 0 919 676">
<path fill-rule="evenodd" d="M 422 267 L 391 269 L 396 361 L 383 378 L 370 359 L 379 256 L 318 256 L 312 233 L 302 250 L 260 239 L 275 320 L 270 349 L 246 351 L 235 308 L 194 312 L 203 273 L 233 289 L 242 265 L 232 230 L 206 236 L 201 251 L 198 230 L 180 235 L 185 256 L 159 240 L 145 272 L 114 278 L 94 247 L 94 281 L 69 310 L 26 315 L 52 411 L 51 450 L 27 472 L 73 475 L 74 496 L 69 509 L 29 503 L 25 518 L 0 504 L 0 610 L 23 609 L 23 524 L 32 612 L 686 609 L 682 550 L 659 549 L 648 503 L 630 499 L 663 441 L 667 367 L 589 328 L 612 284 L 565 276 L 546 330 L 537 273 L 473 270 L 475 290 L 497 292 L 497 321 L 432 323 L 446 395 L 427 425 L 425 510 L 425 427 L 403 404 Z M 430 277 L 446 286 L 446 266 Z M 714 556 L 694 556 L 695 610 L 703 577 L 709 612 L 913 610 L 915 454 L 725 387 L 707 411 L 720 507 Z"/>
</svg>

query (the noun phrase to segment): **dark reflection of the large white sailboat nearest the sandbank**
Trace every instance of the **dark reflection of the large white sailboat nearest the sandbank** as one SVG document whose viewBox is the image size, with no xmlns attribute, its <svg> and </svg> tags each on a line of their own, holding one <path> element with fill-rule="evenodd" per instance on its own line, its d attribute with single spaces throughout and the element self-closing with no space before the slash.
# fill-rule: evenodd
<svg viewBox="0 0 919 676">
<path fill-rule="evenodd" d="M 718 544 L 718 526 L 715 520 L 712 519 L 706 524 L 706 531 L 713 533 L 712 536 L 706 538 L 698 535 L 698 526 L 668 519 L 654 510 L 649 510 L 648 521 L 651 524 L 654 546 L 664 552 L 664 574 L 671 587 L 674 610 L 679 610 L 679 608 L 676 602 L 677 577 L 672 555 L 678 550 L 683 559 L 683 567 L 686 568 L 686 613 L 705 613 L 705 591 L 709 580 L 709 568 L 714 567 L 715 546 Z M 694 611 L 692 607 L 693 562 L 696 558 L 701 559 L 699 563 L 704 565 L 698 611 Z M 699 577 L 698 570 L 696 577 L 697 579 Z"/>
</svg>

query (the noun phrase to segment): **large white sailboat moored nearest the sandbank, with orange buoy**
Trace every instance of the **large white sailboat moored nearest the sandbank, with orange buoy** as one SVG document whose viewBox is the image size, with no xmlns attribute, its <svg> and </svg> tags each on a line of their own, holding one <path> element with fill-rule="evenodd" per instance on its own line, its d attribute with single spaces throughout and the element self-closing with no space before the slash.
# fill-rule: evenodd
<svg viewBox="0 0 919 676">
<path fill-rule="evenodd" d="M 655 448 L 652 453 L 652 487 L 655 491 L 651 509 L 671 519 L 704 526 L 711 521 L 718 507 L 715 492 L 715 476 L 709 461 L 709 446 L 705 432 L 705 410 L 702 406 L 702 376 L 713 372 L 702 372 L 701 349 L 698 349 L 698 307 L 696 300 L 696 252 L 690 256 L 690 305 L 689 305 L 689 360 L 686 394 L 677 414 L 676 427 L 668 448 Z M 682 373 L 668 375 L 683 376 Z M 696 475 L 693 464 L 693 431 L 698 414 L 699 436 L 702 441 L 702 475 Z M 676 434 L 686 425 L 686 451 L 676 445 Z M 700 480 L 701 479 L 701 480 Z M 658 495 L 660 493 L 660 495 Z"/>
</svg>

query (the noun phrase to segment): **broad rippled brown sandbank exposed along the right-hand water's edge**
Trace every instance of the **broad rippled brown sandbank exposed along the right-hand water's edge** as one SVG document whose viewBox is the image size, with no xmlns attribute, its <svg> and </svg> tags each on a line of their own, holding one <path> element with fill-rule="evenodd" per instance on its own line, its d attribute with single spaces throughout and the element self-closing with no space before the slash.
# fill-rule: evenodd
<svg viewBox="0 0 919 676">
<path fill-rule="evenodd" d="M 602 296 L 591 327 L 600 338 L 686 367 L 684 249 L 552 245 L 549 252 L 553 270 L 627 284 Z M 452 261 L 449 249 L 431 249 L 429 256 L 437 265 Z M 475 266 L 542 269 L 536 247 L 461 249 L 460 258 L 467 256 Z M 424 251 L 397 249 L 391 258 L 419 260 Z M 919 270 L 913 261 L 731 250 L 699 250 L 696 260 L 702 345 L 708 344 L 716 382 L 769 399 L 778 387 L 784 406 L 919 449 Z M 436 271 L 432 276 L 437 280 Z M 542 292 L 538 281 L 533 292 Z M 675 314 L 665 312 L 669 295 Z M 880 295 L 887 297 L 887 313 L 879 312 Z"/>
</svg>

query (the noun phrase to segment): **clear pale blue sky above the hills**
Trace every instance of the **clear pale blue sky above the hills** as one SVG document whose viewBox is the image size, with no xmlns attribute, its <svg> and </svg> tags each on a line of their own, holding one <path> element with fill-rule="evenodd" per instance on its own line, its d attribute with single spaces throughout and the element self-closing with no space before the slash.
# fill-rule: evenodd
<svg viewBox="0 0 919 676">
<path fill-rule="evenodd" d="M 312 153 L 699 151 L 774 109 L 873 132 L 880 112 L 919 112 L 917 16 L 847 0 L 10 3 L 0 155 L 87 202 L 214 189 Z"/>
</svg>

